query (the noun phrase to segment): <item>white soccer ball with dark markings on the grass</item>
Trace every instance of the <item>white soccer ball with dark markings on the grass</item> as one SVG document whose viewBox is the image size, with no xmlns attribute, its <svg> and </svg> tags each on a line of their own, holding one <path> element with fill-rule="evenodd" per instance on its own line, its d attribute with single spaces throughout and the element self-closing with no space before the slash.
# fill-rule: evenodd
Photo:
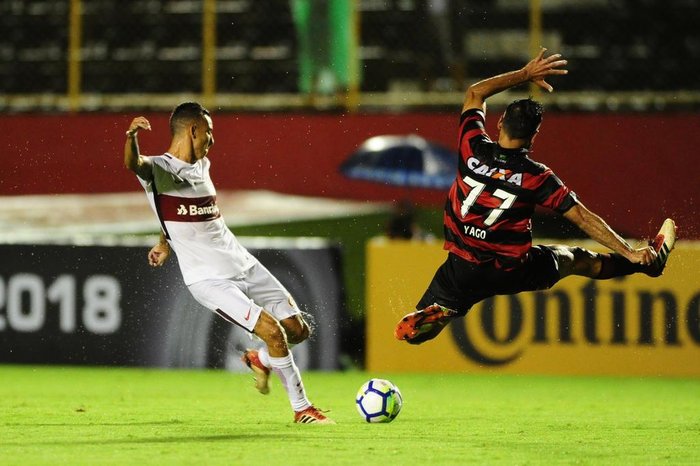
<svg viewBox="0 0 700 466">
<path fill-rule="evenodd" d="M 367 422 L 391 422 L 399 415 L 403 398 L 399 387 L 384 379 L 370 379 L 357 391 L 355 405 Z"/>
</svg>

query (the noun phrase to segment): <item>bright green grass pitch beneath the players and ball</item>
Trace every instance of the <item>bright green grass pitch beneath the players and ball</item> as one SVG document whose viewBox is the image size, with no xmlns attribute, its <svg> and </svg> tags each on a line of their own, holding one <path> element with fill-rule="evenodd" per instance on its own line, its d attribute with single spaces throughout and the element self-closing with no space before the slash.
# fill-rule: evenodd
<svg viewBox="0 0 700 466">
<path fill-rule="evenodd" d="M 370 377 L 405 400 L 354 406 Z M 0 366 L 3 465 L 699 464 L 700 380 L 310 372 L 335 426 L 295 425 L 277 380 L 225 371 Z"/>
</svg>

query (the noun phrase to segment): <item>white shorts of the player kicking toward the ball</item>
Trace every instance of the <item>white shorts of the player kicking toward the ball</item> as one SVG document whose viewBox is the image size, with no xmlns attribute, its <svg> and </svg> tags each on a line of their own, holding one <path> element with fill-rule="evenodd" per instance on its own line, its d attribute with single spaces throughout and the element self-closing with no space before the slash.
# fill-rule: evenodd
<svg viewBox="0 0 700 466">
<path fill-rule="evenodd" d="M 258 261 L 236 277 L 203 280 L 188 288 L 202 306 L 249 332 L 255 328 L 263 309 L 277 320 L 300 313 L 292 295 Z"/>
</svg>

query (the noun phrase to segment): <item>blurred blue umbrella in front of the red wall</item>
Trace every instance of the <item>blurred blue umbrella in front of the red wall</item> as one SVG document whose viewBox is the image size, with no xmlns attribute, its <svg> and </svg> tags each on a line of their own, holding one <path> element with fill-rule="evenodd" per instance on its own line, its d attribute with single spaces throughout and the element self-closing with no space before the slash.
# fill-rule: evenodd
<svg viewBox="0 0 700 466">
<path fill-rule="evenodd" d="M 420 136 L 375 136 L 340 165 L 348 178 L 394 186 L 449 188 L 457 153 Z"/>
</svg>

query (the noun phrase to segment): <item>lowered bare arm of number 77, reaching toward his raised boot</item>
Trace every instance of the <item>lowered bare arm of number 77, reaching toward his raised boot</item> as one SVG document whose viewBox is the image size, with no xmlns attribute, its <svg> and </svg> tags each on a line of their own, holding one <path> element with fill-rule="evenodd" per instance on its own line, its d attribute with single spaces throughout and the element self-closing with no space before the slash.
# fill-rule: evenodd
<svg viewBox="0 0 700 466">
<path fill-rule="evenodd" d="M 633 248 L 610 228 L 605 220 L 588 210 L 580 202 L 569 209 L 564 217 L 579 227 L 591 239 L 615 251 L 630 262 L 649 265 L 656 259 L 656 251 L 653 248 Z"/>
</svg>

